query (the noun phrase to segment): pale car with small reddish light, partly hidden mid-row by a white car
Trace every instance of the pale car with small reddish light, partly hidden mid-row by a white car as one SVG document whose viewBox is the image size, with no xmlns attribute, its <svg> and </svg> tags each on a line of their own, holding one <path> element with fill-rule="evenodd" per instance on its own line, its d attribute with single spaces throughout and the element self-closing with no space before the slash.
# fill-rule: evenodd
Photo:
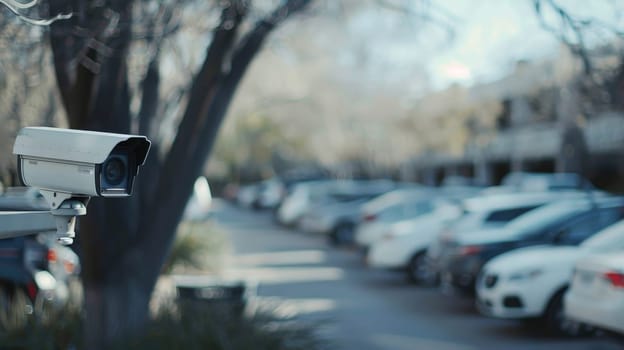
<svg viewBox="0 0 624 350">
<path fill-rule="evenodd" d="M 389 227 L 435 210 L 436 191 L 426 187 L 401 188 L 379 196 L 362 206 L 355 242 L 368 248 L 380 239 Z"/>
</svg>

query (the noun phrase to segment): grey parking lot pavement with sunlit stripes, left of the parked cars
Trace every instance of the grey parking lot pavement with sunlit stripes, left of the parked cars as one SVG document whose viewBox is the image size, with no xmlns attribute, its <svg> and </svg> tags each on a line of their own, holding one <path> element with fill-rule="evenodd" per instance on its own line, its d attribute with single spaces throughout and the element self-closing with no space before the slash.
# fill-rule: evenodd
<svg viewBox="0 0 624 350">
<path fill-rule="evenodd" d="M 258 283 L 257 305 L 315 325 L 339 349 L 619 349 L 608 338 L 562 339 L 535 323 L 479 315 L 468 298 L 368 269 L 354 249 L 281 228 L 267 212 L 218 202 L 233 252 L 227 275 Z"/>
</svg>

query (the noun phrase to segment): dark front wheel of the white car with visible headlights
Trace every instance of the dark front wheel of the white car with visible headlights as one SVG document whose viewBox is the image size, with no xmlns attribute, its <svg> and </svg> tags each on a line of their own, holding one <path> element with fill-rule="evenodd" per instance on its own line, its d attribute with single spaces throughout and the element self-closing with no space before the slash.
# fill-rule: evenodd
<svg viewBox="0 0 624 350">
<path fill-rule="evenodd" d="M 563 295 L 566 289 L 561 290 L 552 297 L 544 314 L 546 328 L 550 334 L 566 337 L 583 337 L 591 335 L 592 327 L 583 323 L 571 320 L 565 316 L 563 311 Z"/>
</svg>

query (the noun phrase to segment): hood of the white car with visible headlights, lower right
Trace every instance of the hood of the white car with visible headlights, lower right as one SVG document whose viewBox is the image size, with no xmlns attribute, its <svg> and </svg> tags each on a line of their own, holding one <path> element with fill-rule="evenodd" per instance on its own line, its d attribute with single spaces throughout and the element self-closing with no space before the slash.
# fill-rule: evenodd
<svg viewBox="0 0 624 350">
<path fill-rule="evenodd" d="M 569 266 L 588 254 L 576 246 L 536 246 L 513 250 L 487 263 L 485 269 L 497 273 L 513 273 L 533 268 L 558 268 Z"/>
</svg>

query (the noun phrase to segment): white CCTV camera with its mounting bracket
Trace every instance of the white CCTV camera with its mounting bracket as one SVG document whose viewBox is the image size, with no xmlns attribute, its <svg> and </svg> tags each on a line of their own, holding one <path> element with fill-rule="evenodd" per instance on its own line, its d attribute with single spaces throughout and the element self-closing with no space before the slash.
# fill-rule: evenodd
<svg viewBox="0 0 624 350">
<path fill-rule="evenodd" d="M 41 191 L 57 219 L 59 240 L 71 244 L 75 216 L 86 214 L 90 197 L 132 194 L 149 148 L 145 136 L 27 127 L 13 153 L 20 180 Z"/>
</svg>

